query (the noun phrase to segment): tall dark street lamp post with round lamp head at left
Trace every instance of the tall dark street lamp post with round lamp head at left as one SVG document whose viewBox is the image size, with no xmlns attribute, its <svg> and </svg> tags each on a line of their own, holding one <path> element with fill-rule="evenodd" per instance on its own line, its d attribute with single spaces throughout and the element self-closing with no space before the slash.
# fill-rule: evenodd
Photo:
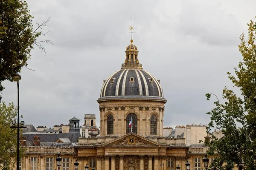
<svg viewBox="0 0 256 170">
<path fill-rule="evenodd" d="M 17 93 L 18 93 L 18 113 L 17 113 L 17 126 L 15 120 L 12 121 L 12 125 L 11 128 L 17 128 L 17 170 L 19 170 L 19 166 L 20 166 L 20 128 L 26 128 L 25 126 L 23 126 L 25 124 L 24 121 L 20 122 L 20 93 L 19 93 L 19 81 L 21 79 L 20 74 L 15 73 L 12 76 L 12 80 L 17 82 Z M 20 126 L 21 125 L 21 126 Z"/>
</svg>

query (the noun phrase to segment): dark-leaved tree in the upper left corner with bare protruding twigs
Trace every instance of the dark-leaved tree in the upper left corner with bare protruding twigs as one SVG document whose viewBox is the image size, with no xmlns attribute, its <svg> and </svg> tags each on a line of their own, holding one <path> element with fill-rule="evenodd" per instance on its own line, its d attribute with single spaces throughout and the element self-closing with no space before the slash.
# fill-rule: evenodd
<svg viewBox="0 0 256 170">
<path fill-rule="evenodd" d="M 41 43 L 52 43 L 37 41 L 40 35 L 45 35 L 42 29 L 49 19 L 37 24 L 33 31 L 33 17 L 29 12 L 25 0 L 0 0 L 0 91 L 4 89 L 2 81 L 12 81 L 11 76 L 27 66 L 33 45 L 45 52 Z"/>
</svg>

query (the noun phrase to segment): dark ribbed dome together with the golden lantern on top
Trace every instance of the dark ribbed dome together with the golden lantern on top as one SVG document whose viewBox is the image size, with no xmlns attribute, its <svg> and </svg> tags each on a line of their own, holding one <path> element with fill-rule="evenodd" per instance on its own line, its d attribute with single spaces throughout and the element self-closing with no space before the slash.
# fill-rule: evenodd
<svg viewBox="0 0 256 170">
<path fill-rule="evenodd" d="M 104 80 L 100 97 L 108 96 L 154 96 L 163 98 L 160 81 L 144 71 L 139 63 L 137 47 L 131 44 L 126 47 L 125 63 Z"/>
</svg>

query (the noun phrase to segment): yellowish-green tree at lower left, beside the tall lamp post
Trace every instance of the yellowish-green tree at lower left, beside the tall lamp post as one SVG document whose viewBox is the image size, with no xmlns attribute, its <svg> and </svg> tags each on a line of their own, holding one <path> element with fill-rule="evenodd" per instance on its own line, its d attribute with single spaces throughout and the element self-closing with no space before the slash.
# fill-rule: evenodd
<svg viewBox="0 0 256 170">
<path fill-rule="evenodd" d="M 17 107 L 13 103 L 8 106 L 0 103 L 0 169 L 8 170 L 15 158 L 17 146 L 17 130 L 11 129 L 11 122 L 17 116 Z"/>
</svg>

